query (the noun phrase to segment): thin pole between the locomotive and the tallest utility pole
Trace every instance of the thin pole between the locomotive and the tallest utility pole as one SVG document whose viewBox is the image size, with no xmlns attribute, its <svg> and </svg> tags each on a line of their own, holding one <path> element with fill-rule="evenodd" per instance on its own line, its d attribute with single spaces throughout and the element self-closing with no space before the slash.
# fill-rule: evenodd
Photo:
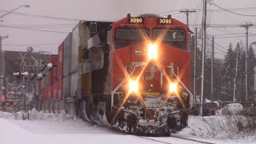
<svg viewBox="0 0 256 144">
<path fill-rule="evenodd" d="M 194 48 L 194 102 L 196 99 L 196 79 L 197 79 L 197 50 L 198 50 L 198 28 L 195 28 L 195 48 Z"/>
</svg>

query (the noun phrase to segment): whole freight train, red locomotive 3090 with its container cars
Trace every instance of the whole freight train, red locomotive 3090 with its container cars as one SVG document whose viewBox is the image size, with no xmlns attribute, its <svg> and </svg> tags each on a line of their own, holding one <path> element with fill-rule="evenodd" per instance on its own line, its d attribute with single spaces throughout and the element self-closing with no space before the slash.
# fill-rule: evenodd
<svg viewBox="0 0 256 144">
<path fill-rule="evenodd" d="M 41 81 L 42 110 L 131 134 L 182 130 L 192 98 L 189 32 L 170 15 L 79 22 Z"/>
</svg>

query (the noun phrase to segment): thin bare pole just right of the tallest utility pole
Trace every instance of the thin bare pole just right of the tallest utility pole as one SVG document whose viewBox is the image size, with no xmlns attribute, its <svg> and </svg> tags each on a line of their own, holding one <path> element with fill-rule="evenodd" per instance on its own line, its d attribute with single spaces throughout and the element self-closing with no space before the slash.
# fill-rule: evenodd
<svg viewBox="0 0 256 144">
<path fill-rule="evenodd" d="M 211 101 L 211 108 L 213 107 L 214 103 L 214 37 L 213 43 L 211 48 L 211 67 L 210 67 L 210 101 Z"/>
</svg>

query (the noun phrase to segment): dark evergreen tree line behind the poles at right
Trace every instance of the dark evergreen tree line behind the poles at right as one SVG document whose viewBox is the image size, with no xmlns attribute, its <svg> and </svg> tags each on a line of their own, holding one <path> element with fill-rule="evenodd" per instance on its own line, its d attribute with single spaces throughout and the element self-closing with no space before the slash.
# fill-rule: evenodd
<svg viewBox="0 0 256 144">
<path fill-rule="evenodd" d="M 194 36 L 190 42 L 190 82 L 193 90 L 194 76 L 196 77 L 196 95 L 201 95 L 201 74 L 202 74 L 202 46 L 198 45 L 195 49 Z M 197 69 L 194 75 L 194 50 L 197 50 Z M 206 46 L 205 60 L 205 82 L 204 98 L 210 99 L 211 83 L 211 58 L 209 52 L 210 46 Z M 236 101 L 246 101 L 246 47 L 242 42 L 237 42 L 235 46 L 232 43 L 226 46 L 224 59 L 214 59 L 214 100 L 233 101 L 234 82 L 236 82 Z M 215 54 L 216 55 L 216 54 Z M 238 59 L 238 74 L 236 77 L 236 62 Z M 253 46 L 250 45 L 248 50 L 248 101 L 254 101 L 254 67 L 256 58 Z M 236 78 L 235 78 L 236 77 Z"/>
</svg>

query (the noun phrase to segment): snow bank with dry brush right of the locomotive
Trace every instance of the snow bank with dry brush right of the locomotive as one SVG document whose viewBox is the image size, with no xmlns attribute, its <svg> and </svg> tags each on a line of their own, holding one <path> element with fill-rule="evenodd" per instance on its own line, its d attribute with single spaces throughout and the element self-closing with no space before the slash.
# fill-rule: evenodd
<svg viewBox="0 0 256 144">
<path fill-rule="evenodd" d="M 179 134 L 190 134 L 200 138 L 233 139 L 240 142 L 255 142 L 256 136 L 253 133 L 240 131 L 238 120 L 246 122 L 243 116 L 190 116 L 189 127 Z M 246 123 L 241 123 L 245 125 Z M 243 139 L 243 140 L 241 140 Z"/>
</svg>

